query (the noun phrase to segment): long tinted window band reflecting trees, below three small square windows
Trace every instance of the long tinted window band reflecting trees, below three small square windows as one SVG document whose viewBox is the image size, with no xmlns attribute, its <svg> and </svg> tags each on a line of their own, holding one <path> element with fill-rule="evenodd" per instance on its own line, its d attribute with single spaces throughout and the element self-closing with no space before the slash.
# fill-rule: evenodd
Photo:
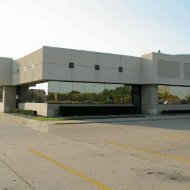
<svg viewBox="0 0 190 190">
<path fill-rule="evenodd" d="M 49 103 L 131 104 L 128 85 L 50 81 L 48 86 Z"/>
</svg>

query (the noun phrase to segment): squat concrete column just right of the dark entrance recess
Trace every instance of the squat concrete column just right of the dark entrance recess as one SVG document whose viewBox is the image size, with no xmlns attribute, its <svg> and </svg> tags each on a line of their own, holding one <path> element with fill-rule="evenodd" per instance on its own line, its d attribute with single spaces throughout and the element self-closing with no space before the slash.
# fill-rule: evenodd
<svg viewBox="0 0 190 190">
<path fill-rule="evenodd" d="M 158 114 L 158 85 L 142 86 L 142 113 L 148 115 Z"/>
</svg>

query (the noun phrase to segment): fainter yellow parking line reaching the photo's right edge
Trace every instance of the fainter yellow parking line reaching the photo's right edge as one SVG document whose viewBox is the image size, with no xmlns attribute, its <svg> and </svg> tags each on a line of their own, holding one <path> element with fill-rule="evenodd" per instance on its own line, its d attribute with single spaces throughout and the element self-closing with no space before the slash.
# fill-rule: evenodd
<svg viewBox="0 0 190 190">
<path fill-rule="evenodd" d="M 175 155 L 175 154 L 157 152 L 157 151 L 153 151 L 153 150 L 150 150 L 150 149 L 140 148 L 140 147 L 131 146 L 131 145 L 128 145 L 128 144 L 117 143 L 117 142 L 113 142 L 113 141 L 109 141 L 107 143 L 112 144 L 112 145 L 116 145 L 116 146 L 120 146 L 120 147 L 125 147 L 125 148 L 131 149 L 131 150 L 150 153 L 152 155 L 156 155 L 156 156 L 159 156 L 159 157 L 162 157 L 162 158 L 170 158 L 170 159 L 173 159 L 173 160 L 177 160 L 177 161 L 180 161 L 180 162 L 183 162 L 183 163 L 190 164 L 190 158 L 189 157 L 183 157 L 183 156 L 178 156 L 178 155 Z"/>
</svg>

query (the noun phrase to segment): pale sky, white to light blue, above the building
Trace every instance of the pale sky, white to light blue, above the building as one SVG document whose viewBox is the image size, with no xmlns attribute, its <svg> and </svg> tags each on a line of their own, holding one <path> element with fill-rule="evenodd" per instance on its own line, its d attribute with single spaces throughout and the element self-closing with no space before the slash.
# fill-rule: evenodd
<svg viewBox="0 0 190 190">
<path fill-rule="evenodd" d="M 0 0 L 0 57 L 42 46 L 190 54 L 190 0 Z"/>
</svg>

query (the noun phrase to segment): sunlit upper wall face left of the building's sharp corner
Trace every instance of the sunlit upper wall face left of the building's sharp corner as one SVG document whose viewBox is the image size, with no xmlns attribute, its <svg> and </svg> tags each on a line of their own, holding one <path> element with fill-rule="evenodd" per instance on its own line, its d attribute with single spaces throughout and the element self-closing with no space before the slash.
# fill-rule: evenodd
<svg viewBox="0 0 190 190">
<path fill-rule="evenodd" d="M 12 63 L 12 84 L 42 80 L 43 49 L 15 60 Z"/>
</svg>

